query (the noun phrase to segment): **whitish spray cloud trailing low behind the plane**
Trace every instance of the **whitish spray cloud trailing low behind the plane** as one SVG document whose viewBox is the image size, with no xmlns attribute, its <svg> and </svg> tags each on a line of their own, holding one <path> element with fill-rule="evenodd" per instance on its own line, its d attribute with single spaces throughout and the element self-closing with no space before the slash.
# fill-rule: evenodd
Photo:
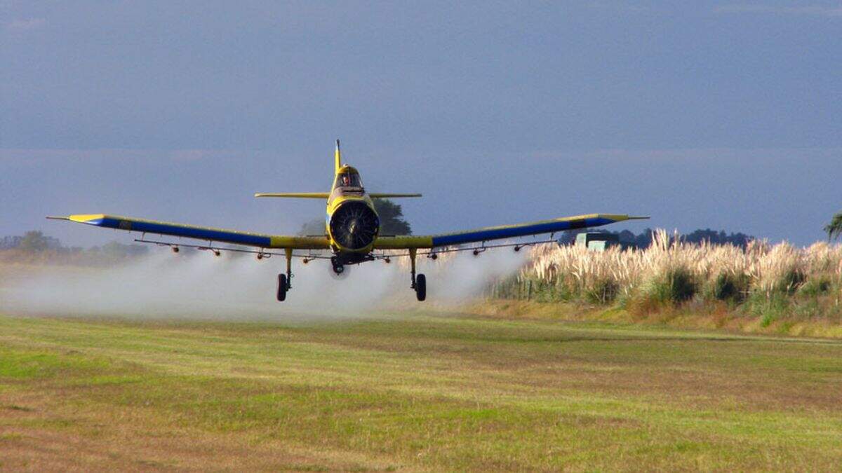
<svg viewBox="0 0 842 473">
<path fill-rule="evenodd" d="M 494 279 L 525 263 L 525 252 L 507 248 L 475 257 L 471 252 L 436 261 L 418 258 L 427 274 L 427 301 L 409 289 L 408 258 L 350 266 L 337 279 L 324 260 L 293 260 L 292 290 L 274 300 L 283 257 L 255 261 L 223 252 L 153 251 L 114 268 L 45 267 L 6 284 L 0 310 L 45 316 L 126 316 L 150 319 L 279 320 L 347 318 L 372 312 L 458 304 L 482 295 Z"/>
</svg>

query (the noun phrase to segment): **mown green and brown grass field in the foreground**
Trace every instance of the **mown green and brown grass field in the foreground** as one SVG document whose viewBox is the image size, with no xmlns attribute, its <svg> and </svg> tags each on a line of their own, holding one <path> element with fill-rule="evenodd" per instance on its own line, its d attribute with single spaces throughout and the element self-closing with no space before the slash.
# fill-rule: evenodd
<svg viewBox="0 0 842 473">
<path fill-rule="evenodd" d="M 838 470 L 842 343 L 0 316 L 0 469 Z"/>
</svg>

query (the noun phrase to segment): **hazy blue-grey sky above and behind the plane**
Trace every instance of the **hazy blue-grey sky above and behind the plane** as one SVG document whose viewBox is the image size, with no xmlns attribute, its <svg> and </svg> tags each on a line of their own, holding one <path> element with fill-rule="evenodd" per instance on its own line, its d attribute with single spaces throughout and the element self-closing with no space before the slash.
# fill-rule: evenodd
<svg viewBox="0 0 842 473">
<path fill-rule="evenodd" d="M 0 236 L 322 218 L 333 141 L 415 233 L 594 212 L 807 245 L 842 210 L 842 2 L 0 2 Z"/>
</svg>

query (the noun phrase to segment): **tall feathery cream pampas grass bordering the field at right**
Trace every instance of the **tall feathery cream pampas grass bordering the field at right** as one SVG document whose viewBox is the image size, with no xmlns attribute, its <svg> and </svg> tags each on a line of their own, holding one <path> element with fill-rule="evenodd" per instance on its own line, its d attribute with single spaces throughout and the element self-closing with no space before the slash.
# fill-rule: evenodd
<svg viewBox="0 0 842 473">
<path fill-rule="evenodd" d="M 659 230 L 646 249 L 535 247 L 520 274 L 498 285 L 524 281 L 563 295 L 556 299 L 631 302 L 644 309 L 691 300 L 754 308 L 781 306 L 783 301 L 792 309 L 791 304 L 818 300 L 823 313 L 839 314 L 842 246 L 819 242 L 797 248 L 754 241 L 743 249 L 685 243 Z"/>
</svg>

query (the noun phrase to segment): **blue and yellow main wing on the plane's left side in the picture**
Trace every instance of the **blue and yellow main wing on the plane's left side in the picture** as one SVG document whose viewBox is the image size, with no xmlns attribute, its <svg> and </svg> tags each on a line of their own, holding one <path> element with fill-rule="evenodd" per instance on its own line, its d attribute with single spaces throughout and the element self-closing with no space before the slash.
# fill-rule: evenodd
<svg viewBox="0 0 842 473">
<path fill-rule="evenodd" d="M 69 215 L 67 217 L 47 217 L 55 220 L 76 221 L 104 228 L 116 230 L 139 231 L 141 233 L 155 233 L 172 235 L 173 237 L 195 238 L 209 242 L 225 242 L 248 247 L 262 248 L 295 248 L 295 249 L 328 249 L 330 244 L 327 237 L 294 237 L 286 235 L 269 235 L 250 231 L 233 231 L 208 226 L 183 225 L 167 221 L 152 221 L 124 217 L 121 215 Z"/>
</svg>

